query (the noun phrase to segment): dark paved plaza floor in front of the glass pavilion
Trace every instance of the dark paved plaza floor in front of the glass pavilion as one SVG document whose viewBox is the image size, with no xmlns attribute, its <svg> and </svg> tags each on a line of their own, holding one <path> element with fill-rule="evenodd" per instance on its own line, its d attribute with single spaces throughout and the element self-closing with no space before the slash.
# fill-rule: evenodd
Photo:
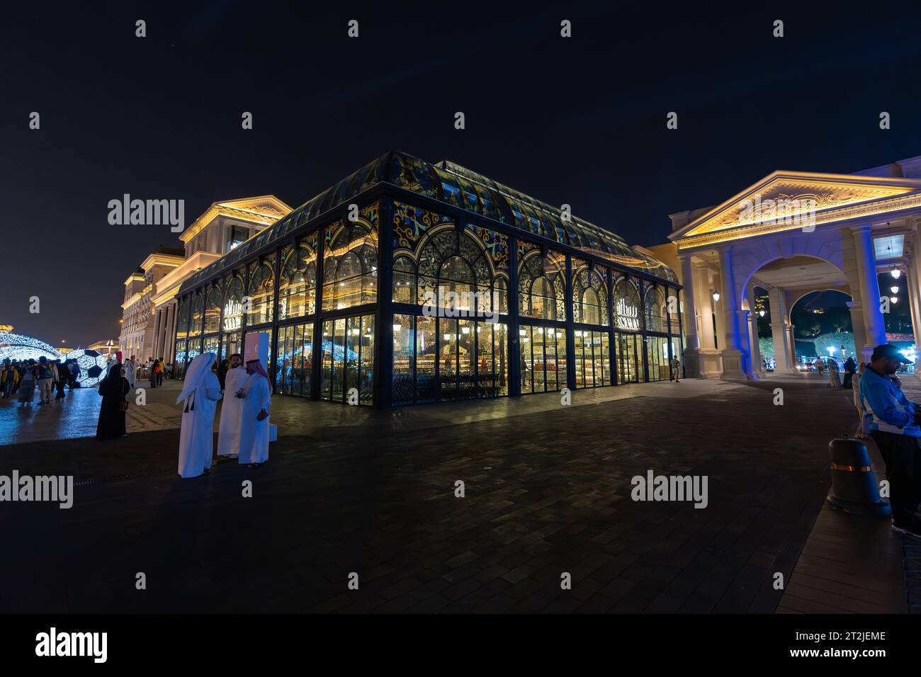
<svg viewBox="0 0 921 677">
<path fill-rule="evenodd" d="M 131 435 L 110 441 L 82 437 L 95 391 L 25 413 L 0 403 L 0 474 L 76 482 L 70 509 L 0 505 L 0 611 L 810 611 L 836 555 L 813 545 L 811 569 L 794 569 L 828 491 L 828 441 L 856 424 L 850 391 L 806 377 L 577 391 L 571 406 L 277 396 L 268 463 L 181 480 L 177 392 L 148 391 Z M 632 500 L 648 470 L 705 475 L 707 507 Z M 904 611 L 901 541 L 885 520 L 834 517 L 848 547 L 888 563 L 875 594 L 853 593 L 862 609 Z"/>
</svg>

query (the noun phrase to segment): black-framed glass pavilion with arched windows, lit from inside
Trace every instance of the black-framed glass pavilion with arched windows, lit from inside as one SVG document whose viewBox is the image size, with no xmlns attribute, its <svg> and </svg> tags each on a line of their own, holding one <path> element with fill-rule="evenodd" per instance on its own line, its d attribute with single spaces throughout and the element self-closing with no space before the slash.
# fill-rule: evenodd
<svg viewBox="0 0 921 677">
<path fill-rule="evenodd" d="M 391 151 L 186 280 L 174 365 L 267 333 L 276 392 L 377 407 L 668 379 L 679 290 L 610 231 Z"/>
</svg>

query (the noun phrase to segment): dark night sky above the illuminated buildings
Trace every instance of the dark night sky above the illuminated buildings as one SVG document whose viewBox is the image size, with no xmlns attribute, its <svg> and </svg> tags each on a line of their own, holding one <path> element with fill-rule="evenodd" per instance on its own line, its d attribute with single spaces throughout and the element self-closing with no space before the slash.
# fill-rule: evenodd
<svg viewBox="0 0 921 677">
<path fill-rule="evenodd" d="M 669 213 L 774 169 L 921 155 L 921 10 L 640 5 L 4 4 L 0 323 L 58 345 L 117 335 L 125 277 L 177 243 L 110 226 L 122 193 L 184 199 L 187 222 L 233 197 L 297 206 L 397 148 L 655 244 Z"/>
</svg>

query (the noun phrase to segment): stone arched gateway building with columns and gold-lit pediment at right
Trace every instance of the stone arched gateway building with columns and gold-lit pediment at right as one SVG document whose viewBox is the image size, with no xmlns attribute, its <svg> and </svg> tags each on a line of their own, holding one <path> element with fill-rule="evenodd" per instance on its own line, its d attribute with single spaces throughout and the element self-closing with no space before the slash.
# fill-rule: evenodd
<svg viewBox="0 0 921 677">
<path fill-rule="evenodd" d="M 869 359 L 886 341 L 877 282 L 885 271 L 904 274 L 904 302 L 921 344 L 921 158 L 857 174 L 775 171 L 717 207 L 671 219 L 687 376 L 759 378 L 755 286 L 769 294 L 780 371 L 795 364 L 789 309 L 816 289 L 851 296 L 857 352 Z"/>
</svg>

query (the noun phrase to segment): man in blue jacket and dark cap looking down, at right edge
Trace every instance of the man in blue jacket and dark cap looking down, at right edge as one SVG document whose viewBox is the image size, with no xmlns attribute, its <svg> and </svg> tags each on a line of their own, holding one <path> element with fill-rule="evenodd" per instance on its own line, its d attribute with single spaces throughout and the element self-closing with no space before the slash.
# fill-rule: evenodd
<svg viewBox="0 0 921 677">
<path fill-rule="evenodd" d="M 860 402 L 869 434 L 886 462 L 892 531 L 921 539 L 921 426 L 915 404 L 890 378 L 902 363 L 912 364 L 892 344 L 877 345 L 860 378 Z"/>
</svg>

